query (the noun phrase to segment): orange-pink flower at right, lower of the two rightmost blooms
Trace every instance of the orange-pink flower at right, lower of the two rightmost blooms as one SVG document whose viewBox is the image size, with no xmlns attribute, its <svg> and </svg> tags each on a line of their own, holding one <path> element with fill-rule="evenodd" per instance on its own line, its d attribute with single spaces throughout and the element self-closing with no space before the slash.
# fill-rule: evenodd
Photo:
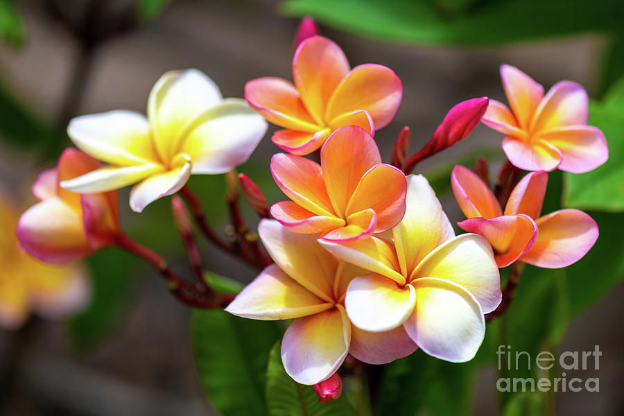
<svg viewBox="0 0 624 416">
<path fill-rule="evenodd" d="M 464 166 L 453 168 L 451 184 L 468 218 L 458 225 L 484 236 L 501 268 L 517 260 L 543 268 L 566 267 L 581 259 L 598 239 L 596 221 L 578 209 L 539 216 L 548 184 L 544 171 L 531 172 L 518 182 L 504 212 L 494 193 Z"/>
</svg>

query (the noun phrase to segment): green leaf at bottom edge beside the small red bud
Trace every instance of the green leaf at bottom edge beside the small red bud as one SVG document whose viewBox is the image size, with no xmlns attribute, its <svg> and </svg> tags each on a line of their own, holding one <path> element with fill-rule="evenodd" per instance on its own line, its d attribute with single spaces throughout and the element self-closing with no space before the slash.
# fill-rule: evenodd
<svg viewBox="0 0 624 416">
<path fill-rule="evenodd" d="M 344 395 L 329 403 L 319 403 L 310 385 L 302 385 L 286 374 L 279 354 L 280 343 L 270 352 L 266 370 L 266 401 L 270 416 L 355 416 Z"/>
</svg>

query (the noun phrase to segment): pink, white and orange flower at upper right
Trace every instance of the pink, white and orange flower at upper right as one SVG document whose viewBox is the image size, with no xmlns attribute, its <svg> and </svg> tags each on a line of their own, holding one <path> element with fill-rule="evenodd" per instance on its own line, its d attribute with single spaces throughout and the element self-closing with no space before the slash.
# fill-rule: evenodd
<svg viewBox="0 0 624 416">
<path fill-rule="evenodd" d="M 503 150 L 514 166 L 527 171 L 583 173 L 607 161 L 603 132 L 587 125 L 587 93 L 577 83 L 561 81 L 544 96 L 544 87 L 510 65 L 501 78 L 511 111 L 490 100 L 483 123 L 505 135 Z"/>
</svg>

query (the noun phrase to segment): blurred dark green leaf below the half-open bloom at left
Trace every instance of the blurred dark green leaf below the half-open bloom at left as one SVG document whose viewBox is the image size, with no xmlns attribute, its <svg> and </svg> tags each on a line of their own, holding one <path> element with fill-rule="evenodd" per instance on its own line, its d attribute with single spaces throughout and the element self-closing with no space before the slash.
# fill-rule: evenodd
<svg viewBox="0 0 624 416">
<path fill-rule="evenodd" d="M 135 259 L 119 250 L 105 250 L 87 259 L 92 275 L 91 304 L 67 322 L 71 340 L 80 349 L 94 347 L 116 329 L 137 280 Z"/>
</svg>

